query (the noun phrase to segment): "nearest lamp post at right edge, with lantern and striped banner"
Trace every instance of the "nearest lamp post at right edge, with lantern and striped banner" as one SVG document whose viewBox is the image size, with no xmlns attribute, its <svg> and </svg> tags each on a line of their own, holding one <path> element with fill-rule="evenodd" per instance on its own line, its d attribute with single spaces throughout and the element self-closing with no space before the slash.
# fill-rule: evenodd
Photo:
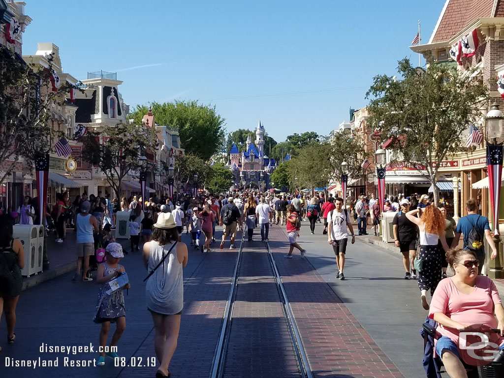
<svg viewBox="0 0 504 378">
<path fill-rule="evenodd" d="M 502 136 L 502 122 L 504 114 L 499 110 L 497 104 L 493 104 L 485 117 L 486 126 L 486 165 L 488 173 L 488 187 L 490 194 L 490 206 L 493 213 L 493 242 L 497 248 L 497 257 L 490 269 L 490 278 L 503 278 L 502 259 L 500 257 L 500 234 L 499 234 L 499 201 L 500 201 L 500 180 L 502 178 L 502 156 L 504 147 L 502 143 L 497 143 L 497 138 Z"/>
</svg>

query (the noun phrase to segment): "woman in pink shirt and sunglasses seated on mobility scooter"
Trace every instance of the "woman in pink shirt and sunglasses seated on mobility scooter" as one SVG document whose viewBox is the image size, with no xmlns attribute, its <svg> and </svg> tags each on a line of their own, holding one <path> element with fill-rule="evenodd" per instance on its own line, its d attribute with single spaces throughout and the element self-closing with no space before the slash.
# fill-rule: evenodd
<svg viewBox="0 0 504 378">
<path fill-rule="evenodd" d="M 445 278 L 437 285 L 430 303 L 429 318 L 437 322 L 435 352 L 442 359 L 447 373 L 451 378 L 466 378 L 462 360 L 477 366 L 488 364 L 492 359 L 478 358 L 479 354 L 488 356 L 488 353 L 461 348 L 459 340 L 463 332 L 459 330 L 474 331 L 481 326 L 488 330 L 497 329 L 499 333 L 488 334 L 489 342 L 501 350 L 493 361 L 504 362 L 504 308 L 493 281 L 478 276 L 479 261 L 473 251 L 450 249 L 446 256 L 455 276 Z M 476 341 L 480 339 L 473 339 L 473 342 Z"/>
</svg>

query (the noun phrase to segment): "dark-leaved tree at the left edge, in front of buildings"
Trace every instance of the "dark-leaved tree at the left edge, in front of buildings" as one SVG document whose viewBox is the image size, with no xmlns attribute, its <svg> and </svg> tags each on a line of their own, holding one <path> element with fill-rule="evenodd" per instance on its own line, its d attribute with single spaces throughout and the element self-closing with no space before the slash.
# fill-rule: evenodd
<svg viewBox="0 0 504 378">
<path fill-rule="evenodd" d="M 66 103 L 71 86 L 61 84 L 52 91 L 52 55 L 48 61 L 49 68 L 41 69 L 25 64 L 11 49 L 3 48 L 0 54 L 0 161 L 4 163 L 0 183 L 21 156 L 31 165 L 63 136 L 50 127 L 49 121 L 54 105 Z"/>
</svg>

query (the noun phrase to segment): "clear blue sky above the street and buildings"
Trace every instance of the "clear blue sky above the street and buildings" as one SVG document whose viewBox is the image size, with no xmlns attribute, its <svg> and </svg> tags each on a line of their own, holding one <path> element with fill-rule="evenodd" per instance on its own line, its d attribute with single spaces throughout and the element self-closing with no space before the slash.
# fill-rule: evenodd
<svg viewBox="0 0 504 378">
<path fill-rule="evenodd" d="M 197 99 L 228 131 L 261 118 L 280 142 L 328 135 L 366 105 L 375 75 L 395 74 L 405 56 L 417 63 L 418 20 L 427 43 L 445 0 L 25 2 L 24 54 L 52 42 L 78 79 L 117 72 L 130 105 Z"/>
</svg>

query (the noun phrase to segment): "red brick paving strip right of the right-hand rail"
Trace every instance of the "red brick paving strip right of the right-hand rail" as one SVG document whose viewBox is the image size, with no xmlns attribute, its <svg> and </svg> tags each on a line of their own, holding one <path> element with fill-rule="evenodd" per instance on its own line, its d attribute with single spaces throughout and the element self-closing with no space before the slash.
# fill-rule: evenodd
<svg viewBox="0 0 504 378">
<path fill-rule="evenodd" d="M 300 258 L 296 249 L 294 258 L 283 258 L 289 248 L 283 227 L 270 228 L 269 244 L 314 376 L 403 376 L 317 270 Z M 303 246 L 302 242 L 300 245 Z"/>
</svg>

